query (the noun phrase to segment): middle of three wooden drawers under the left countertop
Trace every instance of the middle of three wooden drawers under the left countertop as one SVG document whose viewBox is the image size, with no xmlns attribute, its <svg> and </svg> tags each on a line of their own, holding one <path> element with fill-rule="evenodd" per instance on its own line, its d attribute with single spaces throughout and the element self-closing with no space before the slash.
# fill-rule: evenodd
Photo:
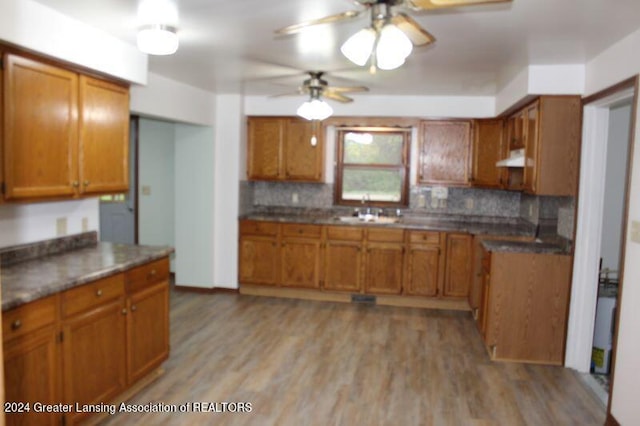
<svg viewBox="0 0 640 426">
<path fill-rule="evenodd" d="M 116 274 L 62 293 L 65 317 L 89 310 L 124 295 L 124 274 Z"/>
</svg>

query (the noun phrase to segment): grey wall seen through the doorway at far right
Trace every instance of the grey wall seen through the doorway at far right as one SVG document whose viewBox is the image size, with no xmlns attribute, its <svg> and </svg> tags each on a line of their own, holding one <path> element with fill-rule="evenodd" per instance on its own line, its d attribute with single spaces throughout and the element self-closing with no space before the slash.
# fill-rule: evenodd
<svg viewBox="0 0 640 426">
<path fill-rule="evenodd" d="M 611 108 L 609 112 L 601 257 L 602 268 L 615 271 L 619 269 L 620 265 L 630 124 L 631 103 Z"/>
</svg>

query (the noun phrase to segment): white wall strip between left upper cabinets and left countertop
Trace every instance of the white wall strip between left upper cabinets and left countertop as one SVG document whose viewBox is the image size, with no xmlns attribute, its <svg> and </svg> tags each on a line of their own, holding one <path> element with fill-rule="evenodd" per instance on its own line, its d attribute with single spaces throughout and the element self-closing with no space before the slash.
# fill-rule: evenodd
<svg viewBox="0 0 640 426">
<path fill-rule="evenodd" d="M 65 218 L 67 232 L 99 231 L 100 215 L 97 198 L 74 201 L 0 204 L 0 247 L 56 238 L 57 221 Z M 82 221 L 87 220 L 83 230 Z"/>
</svg>

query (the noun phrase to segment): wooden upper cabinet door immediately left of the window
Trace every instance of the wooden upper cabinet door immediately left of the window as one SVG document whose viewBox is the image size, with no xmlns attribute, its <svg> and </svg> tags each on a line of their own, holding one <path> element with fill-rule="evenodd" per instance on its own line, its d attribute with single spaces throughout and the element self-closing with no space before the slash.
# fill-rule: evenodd
<svg viewBox="0 0 640 426">
<path fill-rule="evenodd" d="M 284 138 L 285 179 L 319 182 L 322 179 L 324 144 L 317 121 L 290 119 Z M 316 137 L 316 144 L 311 138 Z"/>
</svg>

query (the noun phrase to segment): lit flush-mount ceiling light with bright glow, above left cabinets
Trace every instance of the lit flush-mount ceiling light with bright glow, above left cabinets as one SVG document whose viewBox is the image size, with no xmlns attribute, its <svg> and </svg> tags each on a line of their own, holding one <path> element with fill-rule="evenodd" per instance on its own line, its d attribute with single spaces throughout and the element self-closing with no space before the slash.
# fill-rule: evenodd
<svg viewBox="0 0 640 426">
<path fill-rule="evenodd" d="M 138 5 L 138 49 L 149 55 L 178 50 L 178 8 L 171 0 L 142 0 Z"/>
</svg>

